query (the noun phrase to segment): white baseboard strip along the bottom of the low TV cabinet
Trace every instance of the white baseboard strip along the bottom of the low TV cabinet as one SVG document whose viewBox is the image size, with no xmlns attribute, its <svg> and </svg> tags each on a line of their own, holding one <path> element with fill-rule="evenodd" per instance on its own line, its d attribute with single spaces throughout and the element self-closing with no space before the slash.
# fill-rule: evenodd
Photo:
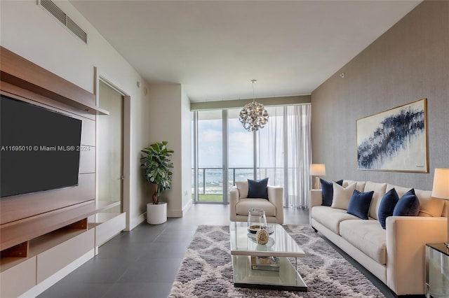
<svg viewBox="0 0 449 298">
<path fill-rule="evenodd" d="M 35 285 L 33 288 L 27 290 L 27 292 L 23 293 L 19 297 L 36 297 L 40 295 L 43 291 L 50 288 L 55 283 L 58 283 L 62 278 L 65 278 L 68 274 L 74 271 L 76 268 L 80 267 L 82 264 L 86 263 L 88 260 L 91 260 L 95 255 L 95 249 L 89 250 L 87 253 L 74 260 L 72 263 L 68 264 L 66 267 L 60 269 L 58 272 L 53 274 L 52 276 L 46 278 L 41 281 L 38 285 Z"/>
</svg>

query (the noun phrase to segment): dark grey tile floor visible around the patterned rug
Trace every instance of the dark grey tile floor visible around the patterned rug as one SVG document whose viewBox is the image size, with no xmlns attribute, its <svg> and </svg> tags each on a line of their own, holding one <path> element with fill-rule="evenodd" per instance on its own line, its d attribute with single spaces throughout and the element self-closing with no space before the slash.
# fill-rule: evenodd
<svg viewBox="0 0 449 298">
<path fill-rule="evenodd" d="M 285 215 L 285 224 L 309 223 L 308 210 L 286 208 Z M 229 206 L 194 204 L 183 218 L 168 218 L 162 225 L 142 222 L 132 231 L 122 232 L 105 243 L 97 256 L 39 297 L 165 298 L 199 225 L 229 225 Z M 386 297 L 394 297 L 382 282 L 346 254 L 342 255 L 368 276 Z"/>
</svg>

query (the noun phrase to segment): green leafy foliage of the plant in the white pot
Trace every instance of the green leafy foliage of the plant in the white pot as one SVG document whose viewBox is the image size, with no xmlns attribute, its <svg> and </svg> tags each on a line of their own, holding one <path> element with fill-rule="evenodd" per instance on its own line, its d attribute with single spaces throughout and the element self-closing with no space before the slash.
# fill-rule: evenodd
<svg viewBox="0 0 449 298">
<path fill-rule="evenodd" d="M 140 158 L 140 166 L 145 169 L 145 180 L 156 185 L 153 204 L 159 204 L 159 194 L 171 186 L 173 173 L 170 169 L 173 169 L 173 163 L 170 162 L 170 156 L 174 151 L 167 148 L 167 143 L 167 141 L 154 143 L 141 150 L 145 154 Z"/>
</svg>

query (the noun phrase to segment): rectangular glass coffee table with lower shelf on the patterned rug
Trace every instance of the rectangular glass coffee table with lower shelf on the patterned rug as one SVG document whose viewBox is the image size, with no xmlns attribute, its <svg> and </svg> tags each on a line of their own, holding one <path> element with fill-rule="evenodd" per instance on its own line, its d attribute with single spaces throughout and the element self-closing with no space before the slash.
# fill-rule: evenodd
<svg viewBox="0 0 449 298">
<path fill-rule="evenodd" d="M 297 271 L 297 258 L 305 257 L 304 251 L 281 225 L 268 226 L 273 233 L 268 243 L 261 245 L 255 234 L 248 232 L 248 223 L 229 224 L 234 287 L 307 292 Z"/>
</svg>

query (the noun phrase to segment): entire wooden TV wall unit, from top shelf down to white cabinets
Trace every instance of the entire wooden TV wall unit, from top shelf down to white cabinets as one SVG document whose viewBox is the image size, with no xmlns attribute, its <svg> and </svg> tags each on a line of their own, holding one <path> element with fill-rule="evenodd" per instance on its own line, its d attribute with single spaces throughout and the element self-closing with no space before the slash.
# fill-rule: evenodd
<svg viewBox="0 0 449 298">
<path fill-rule="evenodd" d="M 1 94 L 83 120 L 81 146 L 90 148 L 80 153 L 79 185 L 0 199 L 0 297 L 35 296 L 121 232 L 125 214 L 99 220 L 120 202 L 95 199 L 95 121 L 108 115 L 95 95 L 3 47 L 0 75 Z"/>
</svg>

